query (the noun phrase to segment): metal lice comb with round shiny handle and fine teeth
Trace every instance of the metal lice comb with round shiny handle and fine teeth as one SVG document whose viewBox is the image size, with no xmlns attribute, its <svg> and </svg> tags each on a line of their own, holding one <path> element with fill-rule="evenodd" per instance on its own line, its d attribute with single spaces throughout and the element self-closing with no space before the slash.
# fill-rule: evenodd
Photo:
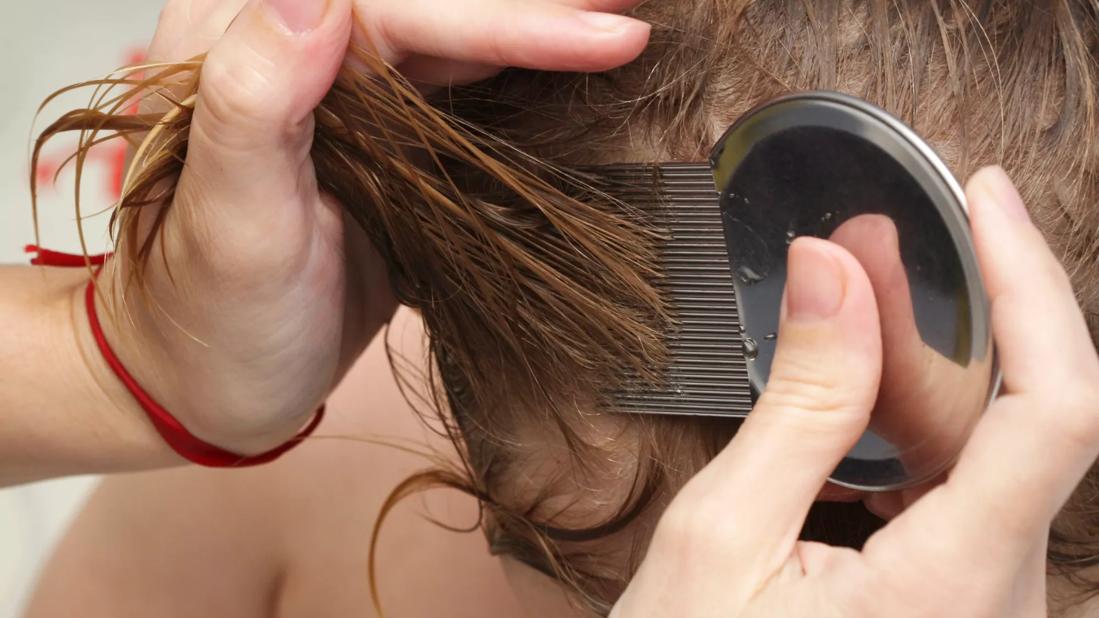
<svg viewBox="0 0 1099 618">
<path fill-rule="evenodd" d="M 863 266 L 882 351 L 869 427 L 831 481 L 890 490 L 948 468 L 1000 374 L 965 196 L 914 131 L 866 101 L 803 92 L 746 113 L 707 163 L 592 172 L 664 239 L 667 365 L 656 384 L 628 379 L 618 409 L 745 417 L 770 375 L 789 246 L 817 236 Z"/>
</svg>

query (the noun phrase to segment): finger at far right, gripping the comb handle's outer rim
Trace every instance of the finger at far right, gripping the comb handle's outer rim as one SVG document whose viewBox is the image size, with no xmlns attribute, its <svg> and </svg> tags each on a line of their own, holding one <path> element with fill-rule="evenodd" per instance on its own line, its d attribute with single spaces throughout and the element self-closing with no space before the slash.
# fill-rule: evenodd
<svg viewBox="0 0 1099 618">
<path fill-rule="evenodd" d="M 968 200 L 1009 395 L 963 451 L 943 517 L 966 549 L 991 539 L 981 553 L 1000 558 L 1045 533 L 1099 454 L 1099 358 L 1068 277 L 1007 175 L 981 170 Z"/>
</svg>

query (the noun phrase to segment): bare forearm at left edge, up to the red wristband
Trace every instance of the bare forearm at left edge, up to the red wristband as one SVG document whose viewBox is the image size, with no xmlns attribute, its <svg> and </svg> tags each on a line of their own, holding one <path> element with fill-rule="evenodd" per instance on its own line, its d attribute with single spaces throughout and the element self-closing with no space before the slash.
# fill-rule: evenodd
<svg viewBox="0 0 1099 618">
<path fill-rule="evenodd" d="M 0 266 L 0 486 L 173 465 L 96 349 L 82 268 Z"/>
</svg>

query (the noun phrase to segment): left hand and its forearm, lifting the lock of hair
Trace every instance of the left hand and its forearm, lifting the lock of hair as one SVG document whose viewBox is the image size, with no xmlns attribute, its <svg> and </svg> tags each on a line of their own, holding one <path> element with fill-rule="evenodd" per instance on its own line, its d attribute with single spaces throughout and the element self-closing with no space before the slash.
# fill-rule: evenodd
<svg viewBox="0 0 1099 618">
<path fill-rule="evenodd" d="M 348 43 L 369 37 L 425 85 L 506 65 L 603 70 L 647 41 L 647 24 L 613 14 L 633 3 L 170 0 L 151 59 L 209 56 L 153 250 L 173 279 L 152 260 L 152 301 L 123 302 L 112 285 L 123 261 L 100 276 L 99 311 L 123 364 L 199 438 L 242 454 L 289 439 L 395 307 L 380 261 L 318 191 L 309 158 L 311 112 Z M 96 350 L 86 280 L 0 268 L 0 321 L 21 325 L 0 341 L 0 486 L 181 463 Z"/>
</svg>

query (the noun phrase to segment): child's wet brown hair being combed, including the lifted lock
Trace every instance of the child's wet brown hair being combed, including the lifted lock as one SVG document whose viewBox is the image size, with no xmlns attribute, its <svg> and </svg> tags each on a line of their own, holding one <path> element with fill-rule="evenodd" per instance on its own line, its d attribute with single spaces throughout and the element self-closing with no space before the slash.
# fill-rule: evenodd
<svg viewBox="0 0 1099 618">
<path fill-rule="evenodd" d="M 606 393 L 624 376 L 658 379 L 675 316 L 656 285 L 662 230 L 596 189 L 589 166 L 702 161 L 766 99 L 848 92 L 912 125 L 958 177 L 1003 165 L 1099 333 L 1099 0 L 650 0 L 634 13 L 654 24 L 652 43 L 622 68 L 508 69 L 428 98 L 357 51 L 369 75 L 341 73 L 312 147 L 320 186 L 423 317 L 430 375 L 398 374 L 460 453 L 401 484 L 384 514 L 425 487 L 468 492 L 493 551 L 601 611 L 643 554 L 651 516 L 736 423 L 614 413 Z M 166 209 L 138 221 L 170 203 L 199 80 L 201 58 L 122 73 L 100 82 L 121 92 L 38 141 L 80 131 L 86 150 L 147 134 L 112 221 L 138 284 L 156 258 L 138 229 L 157 229 Z M 173 108 L 122 113 L 149 96 Z M 1051 565 L 1084 595 L 1099 593 L 1083 574 L 1099 564 L 1097 478 L 1051 533 Z M 858 547 L 878 526 L 858 505 L 822 505 L 804 533 Z"/>
</svg>

